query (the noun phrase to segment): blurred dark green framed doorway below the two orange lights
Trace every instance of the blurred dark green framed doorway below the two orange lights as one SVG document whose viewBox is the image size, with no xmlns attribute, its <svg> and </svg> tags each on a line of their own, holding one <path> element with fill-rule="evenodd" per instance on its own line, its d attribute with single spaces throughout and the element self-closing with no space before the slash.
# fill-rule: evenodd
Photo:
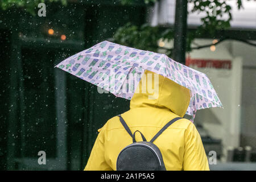
<svg viewBox="0 0 256 182">
<path fill-rule="evenodd" d="M 42 46 L 42 44 L 44 46 Z M 56 44 L 60 44 L 57 46 Z M 65 170 L 68 168 L 67 78 L 54 68 L 61 60 L 81 51 L 76 43 L 15 42 L 11 70 L 8 169 Z M 57 48 L 61 47 L 61 48 Z M 79 49 L 80 48 L 80 49 Z M 14 119 L 13 119 L 14 118 Z M 46 164 L 39 164 L 46 153 Z"/>
</svg>

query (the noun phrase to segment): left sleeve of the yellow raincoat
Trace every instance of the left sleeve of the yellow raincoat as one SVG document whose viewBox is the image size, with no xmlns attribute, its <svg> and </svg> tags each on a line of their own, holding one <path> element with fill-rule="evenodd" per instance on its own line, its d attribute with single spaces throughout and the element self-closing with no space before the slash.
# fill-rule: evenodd
<svg viewBox="0 0 256 182">
<path fill-rule="evenodd" d="M 102 128 L 98 130 L 100 133 L 94 143 L 92 152 L 88 162 L 84 168 L 84 171 L 109 171 L 112 170 L 105 160 L 105 150 L 104 150 L 104 133 L 105 130 Z"/>
</svg>

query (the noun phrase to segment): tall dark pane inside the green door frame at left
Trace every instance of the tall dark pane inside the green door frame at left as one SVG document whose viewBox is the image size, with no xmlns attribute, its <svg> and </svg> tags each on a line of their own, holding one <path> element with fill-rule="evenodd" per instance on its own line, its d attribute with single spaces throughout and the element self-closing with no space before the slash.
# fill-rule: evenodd
<svg viewBox="0 0 256 182">
<path fill-rule="evenodd" d="M 56 156 L 55 77 L 53 54 L 22 50 L 23 79 L 20 81 L 23 156 L 36 157 L 43 150 Z"/>
</svg>

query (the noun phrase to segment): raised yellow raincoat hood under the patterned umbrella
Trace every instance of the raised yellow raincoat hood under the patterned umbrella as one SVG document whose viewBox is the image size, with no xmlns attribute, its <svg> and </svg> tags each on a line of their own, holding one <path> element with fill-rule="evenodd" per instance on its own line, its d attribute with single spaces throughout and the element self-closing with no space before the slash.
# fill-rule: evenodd
<svg viewBox="0 0 256 182">
<path fill-rule="evenodd" d="M 169 78 L 146 70 L 133 98 L 131 98 L 130 109 L 157 107 L 171 110 L 172 113 L 183 117 L 187 111 L 189 101 L 189 89 L 176 84 Z"/>
</svg>

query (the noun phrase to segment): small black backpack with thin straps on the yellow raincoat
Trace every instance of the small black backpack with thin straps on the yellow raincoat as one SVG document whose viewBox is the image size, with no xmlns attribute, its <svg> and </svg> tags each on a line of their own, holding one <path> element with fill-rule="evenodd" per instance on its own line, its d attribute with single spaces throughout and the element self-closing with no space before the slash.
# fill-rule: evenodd
<svg viewBox="0 0 256 182">
<path fill-rule="evenodd" d="M 167 129 L 167 127 L 181 118 L 177 117 L 168 122 L 160 131 L 158 131 L 150 142 L 147 142 L 141 131 L 137 130 L 141 134 L 143 142 L 136 142 L 135 133 L 137 131 L 132 134 L 121 115 L 118 116 L 127 133 L 133 138 L 133 143 L 123 148 L 119 153 L 117 157 L 117 171 L 166 171 L 163 156 L 159 148 L 153 142 Z"/>
</svg>

